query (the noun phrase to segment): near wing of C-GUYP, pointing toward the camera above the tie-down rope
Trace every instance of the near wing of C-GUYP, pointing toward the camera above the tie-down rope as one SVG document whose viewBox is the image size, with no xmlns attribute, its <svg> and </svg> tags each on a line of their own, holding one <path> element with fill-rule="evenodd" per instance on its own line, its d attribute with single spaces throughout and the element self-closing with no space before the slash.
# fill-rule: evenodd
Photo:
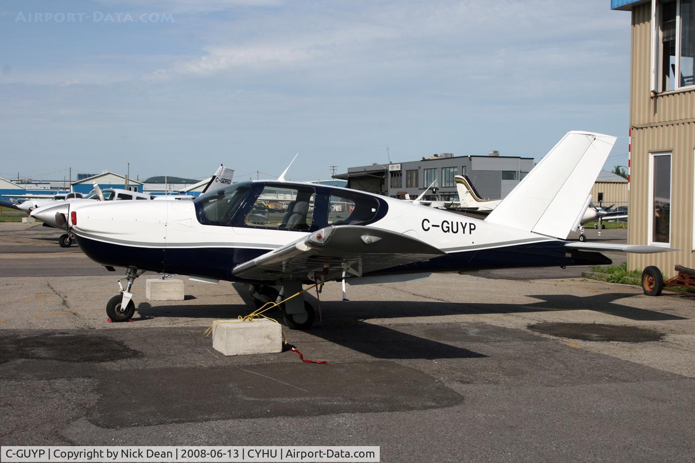
<svg viewBox="0 0 695 463">
<path fill-rule="evenodd" d="M 327 227 L 277 250 L 241 263 L 235 277 L 279 281 L 312 280 L 314 273 L 335 279 L 343 272 L 363 274 L 406 263 L 427 261 L 445 253 L 411 236 L 360 225 Z"/>
</svg>

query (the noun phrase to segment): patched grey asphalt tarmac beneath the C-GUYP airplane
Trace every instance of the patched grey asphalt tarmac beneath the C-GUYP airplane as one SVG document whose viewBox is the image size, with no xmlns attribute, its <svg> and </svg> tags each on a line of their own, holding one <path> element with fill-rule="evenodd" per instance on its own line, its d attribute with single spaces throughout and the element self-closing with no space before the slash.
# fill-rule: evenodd
<svg viewBox="0 0 695 463">
<path fill-rule="evenodd" d="M 186 300 L 149 302 L 145 274 L 133 322 L 106 323 L 122 275 L 58 247 L 59 234 L 0 224 L 1 445 L 377 445 L 384 462 L 695 455 L 693 298 L 582 279 L 586 268 L 348 286 L 350 302 L 327 284 L 316 325 L 284 327 L 327 365 L 224 357 L 204 331 L 252 310 L 243 286 L 181 277 Z"/>
</svg>

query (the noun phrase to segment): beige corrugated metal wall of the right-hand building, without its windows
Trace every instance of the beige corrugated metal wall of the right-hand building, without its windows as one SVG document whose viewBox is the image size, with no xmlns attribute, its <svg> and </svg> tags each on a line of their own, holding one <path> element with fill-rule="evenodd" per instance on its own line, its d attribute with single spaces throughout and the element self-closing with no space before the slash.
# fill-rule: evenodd
<svg viewBox="0 0 695 463">
<path fill-rule="evenodd" d="M 651 96 L 651 5 L 632 11 L 632 174 L 628 243 L 648 243 L 651 220 L 649 203 L 649 153 L 668 151 L 671 156 L 671 247 L 678 252 L 628 254 L 628 268 L 658 266 L 665 278 L 675 275 L 678 263 L 695 268 L 694 158 L 695 90 Z"/>
</svg>

